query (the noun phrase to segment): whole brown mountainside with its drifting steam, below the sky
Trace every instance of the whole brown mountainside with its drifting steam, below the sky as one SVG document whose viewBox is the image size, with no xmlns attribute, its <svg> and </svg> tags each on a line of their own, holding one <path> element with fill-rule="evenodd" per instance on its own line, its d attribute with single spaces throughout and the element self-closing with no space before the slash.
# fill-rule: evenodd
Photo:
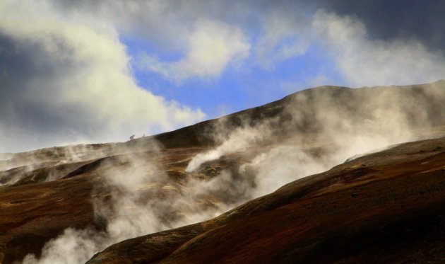
<svg viewBox="0 0 445 264">
<path fill-rule="evenodd" d="M 445 81 L 320 86 L 129 142 L 0 154 L 0 261 L 444 261 L 444 101 Z"/>
</svg>

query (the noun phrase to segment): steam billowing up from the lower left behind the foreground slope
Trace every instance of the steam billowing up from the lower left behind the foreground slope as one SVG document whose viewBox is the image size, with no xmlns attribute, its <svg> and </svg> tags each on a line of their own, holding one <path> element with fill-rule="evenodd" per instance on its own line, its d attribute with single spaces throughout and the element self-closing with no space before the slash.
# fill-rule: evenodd
<svg viewBox="0 0 445 264">
<path fill-rule="evenodd" d="M 95 219 L 106 222 L 105 229 L 66 229 L 45 244 L 39 258 L 25 256 L 24 264 L 85 263 L 113 243 L 201 222 L 239 204 L 237 190 L 227 190 L 228 185 L 235 184 L 227 171 L 207 181 L 192 177 L 175 183 L 162 167 L 162 146 L 158 142 L 153 139 L 150 146 L 141 147 L 143 151 L 137 149 L 121 148 L 124 154 L 105 158 L 109 160 L 97 168 L 100 176 L 95 179 L 92 203 Z M 107 154 L 97 151 L 96 156 L 88 158 Z"/>
</svg>

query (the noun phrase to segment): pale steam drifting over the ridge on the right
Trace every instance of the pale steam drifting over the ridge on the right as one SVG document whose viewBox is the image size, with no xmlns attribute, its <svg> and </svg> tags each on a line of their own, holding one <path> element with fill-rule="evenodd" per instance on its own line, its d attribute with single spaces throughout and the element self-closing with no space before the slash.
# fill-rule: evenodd
<svg viewBox="0 0 445 264">
<path fill-rule="evenodd" d="M 256 152 L 239 167 L 253 180 L 250 197 L 273 192 L 285 183 L 321 173 L 360 154 L 431 134 L 445 116 L 441 81 L 425 89 L 406 87 L 340 88 L 322 86 L 287 98 L 280 118 L 242 125 L 227 133 L 227 120 L 215 125 L 218 147 L 196 155 L 186 171 L 234 153 Z M 283 118 L 285 117 L 285 118 Z M 225 125 L 221 125 L 225 124 Z M 268 146 L 271 140 L 280 144 Z M 260 148 L 261 150 L 255 150 Z"/>
</svg>

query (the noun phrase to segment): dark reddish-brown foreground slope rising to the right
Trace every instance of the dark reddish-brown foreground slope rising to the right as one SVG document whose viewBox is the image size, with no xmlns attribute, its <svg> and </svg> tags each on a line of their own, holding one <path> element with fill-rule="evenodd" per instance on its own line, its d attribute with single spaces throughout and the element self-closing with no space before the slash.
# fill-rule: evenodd
<svg viewBox="0 0 445 264">
<path fill-rule="evenodd" d="M 114 244 L 88 263 L 443 263 L 445 138 L 289 183 L 206 222 Z"/>
</svg>

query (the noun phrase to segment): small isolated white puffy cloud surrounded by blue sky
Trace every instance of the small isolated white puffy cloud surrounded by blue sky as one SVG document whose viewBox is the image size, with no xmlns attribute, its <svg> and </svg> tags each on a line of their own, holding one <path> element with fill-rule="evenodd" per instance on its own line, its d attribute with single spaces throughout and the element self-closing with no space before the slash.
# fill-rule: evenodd
<svg viewBox="0 0 445 264">
<path fill-rule="evenodd" d="M 162 62 L 154 56 L 143 58 L 143 67 L 172 81 L 193 77 L 218 77 L 227 64 L 249 55 L 250 45 L 239 28 L 227 23 L 201 20 L 187 40 L 186 56 L 177 62 Z"/>
</svg>

